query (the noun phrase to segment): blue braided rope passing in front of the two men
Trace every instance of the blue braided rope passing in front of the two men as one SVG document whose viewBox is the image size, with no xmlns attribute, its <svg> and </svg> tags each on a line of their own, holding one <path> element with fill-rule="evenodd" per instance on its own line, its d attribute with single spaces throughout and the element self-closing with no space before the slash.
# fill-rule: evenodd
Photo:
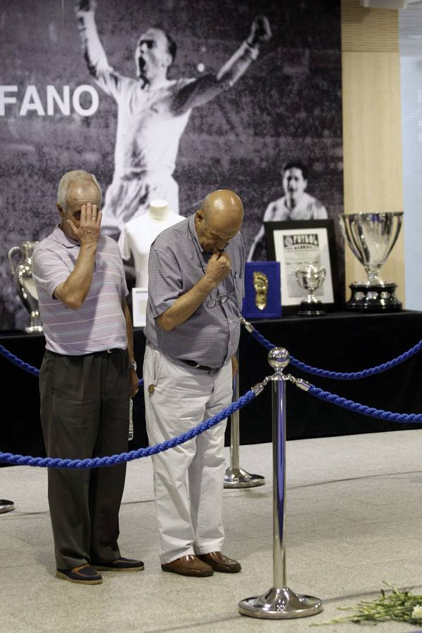
<svg viewBox="0 0 422 633">
<path fill-rule="evenodd" d="M 104 466 L 115 466 L 118 463 L 124 463 L 125 461 L 132 461 L 141 457 L 148 457 L 150 455 L 156 455 L 167 449 L 179 446 L 188 440 L 191 440 L 196 435 L 203 433 L 203 431 L 215 426 L 228 416 L 245 407 L 248 402 L 255 398 L 255 392 L 252 390 L 247 391 L 236 402 L 231 402 L 229 407 L 222 409 L 219 413 L 212 416 L 209 420 L 203 421 L 198 426 L 195 426 L 181 433 L 177 437 L 172 437 L 170 440 L 165 440 L 160 444 L 149 446 L 148 448 L 140 448 L 135 451 L 129 451 L 127 453 L 120 453 L 118 455 L 110 455 L 106 457 L 94 457 L 92 459 L 61 459 L 60 457 L 31 457 L 29 455 L 13 455 L 11 453 L 0 452 L 0 462 L 10 463 L 14 466 L 41 466 L 41 468 L 103 468 Z"/>
</svg>

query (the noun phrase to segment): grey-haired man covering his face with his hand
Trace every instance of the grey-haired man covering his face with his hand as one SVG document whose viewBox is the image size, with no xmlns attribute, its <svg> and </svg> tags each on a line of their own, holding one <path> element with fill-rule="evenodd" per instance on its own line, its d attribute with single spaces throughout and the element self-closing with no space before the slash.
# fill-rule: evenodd
<svg viewBox="0 0 422 633">
<path fill-rule="evenodd" d="M 127 450 L 129 396 L 138 390 L 127 286 L 117 243 L 100 234 L 101 189 L 84 171 L 58 186 L 61 222 L 34 251 L 44 322 L 41 425 L 49 456 L 85 458 Z M 102 582 L 98 570 L 141 570 L 120 556 L 119 509 L 126 464 L 49 468 L 56 575 Z"/>
</svg>

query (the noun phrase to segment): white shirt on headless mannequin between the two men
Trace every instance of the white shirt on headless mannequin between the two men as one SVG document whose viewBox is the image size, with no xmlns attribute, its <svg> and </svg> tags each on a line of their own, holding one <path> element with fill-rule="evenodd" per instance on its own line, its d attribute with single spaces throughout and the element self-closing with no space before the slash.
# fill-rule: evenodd
<svg viewBox="0 0 422 633">
<path fill-rule="evenodd" d="M 185 219 L 172 212 L 167 200 L 151 200 L 145 215 L 124 224 L 119 238 L 124 260 L 134 256 L 136 288 L 148 288 L 148 256 L 151 244 L 162 231 Z"/>
</svg>

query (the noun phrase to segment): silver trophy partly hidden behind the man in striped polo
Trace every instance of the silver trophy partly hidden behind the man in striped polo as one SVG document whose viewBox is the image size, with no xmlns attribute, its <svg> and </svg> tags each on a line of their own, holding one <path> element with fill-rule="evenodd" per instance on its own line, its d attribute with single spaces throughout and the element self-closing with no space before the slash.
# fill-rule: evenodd
<svg viewBox="0 0 422 633">
<path fill-rule="evenodd" d="M 25 241 L 20 246 L 13 246 L 8 252 L 11 262 L 13 281 L 23 305 L 30 313 L 30 324 L 25 328 L 28 334 L 37 334 L 43 331 L 41 316 L 38 312 L 38 295 L 32 279 L 32 253 L 38 242 Z M 19 260 L 15 257 L 19 255 Z"/>
</svg>

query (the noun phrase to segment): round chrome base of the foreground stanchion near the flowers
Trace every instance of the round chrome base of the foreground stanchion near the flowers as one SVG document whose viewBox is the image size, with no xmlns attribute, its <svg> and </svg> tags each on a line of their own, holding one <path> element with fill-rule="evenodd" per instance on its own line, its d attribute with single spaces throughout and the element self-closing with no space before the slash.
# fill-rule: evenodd
<svg viewBox="0 0 422 633">
<path fill-rule="evenodd" d="M 322 610 L 322 602 L 313 596 L 300 596 L 291 589 L 271 587 L 262 596 L 245 598 L 238 605 L 241 615 L 250 618 L 269 618 L 271 620 L 287 620 L 288 618 L 307 618 Z"/>
</svg>

